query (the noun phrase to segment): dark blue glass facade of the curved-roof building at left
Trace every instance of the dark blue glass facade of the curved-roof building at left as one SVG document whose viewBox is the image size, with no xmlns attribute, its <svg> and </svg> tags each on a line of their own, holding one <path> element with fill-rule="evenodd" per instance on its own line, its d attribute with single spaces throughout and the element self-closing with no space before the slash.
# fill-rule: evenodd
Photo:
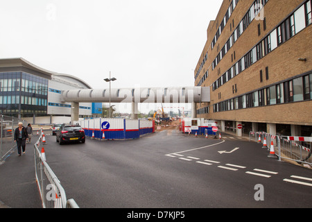
<svg viewBox="0 0 312 222">
<path fill-rule="evenodd" d="M 47 114 L 49 80 L 24 71 L 0 73 L 0 114 Z"/>
</svg>

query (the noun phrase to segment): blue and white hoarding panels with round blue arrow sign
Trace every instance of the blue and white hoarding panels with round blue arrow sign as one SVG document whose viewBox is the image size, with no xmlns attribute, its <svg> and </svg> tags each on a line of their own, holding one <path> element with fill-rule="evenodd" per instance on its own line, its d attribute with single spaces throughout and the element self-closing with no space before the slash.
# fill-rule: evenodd
<svg viewBox="0 0 312 222">
<path fill-rule="evenodd" d="M 77 121 L 87 137 L 103 139 L 137 139 L 141 135 L 153 133 L 155 123 L 141 119 L 84 119 Z"/>
</svg>

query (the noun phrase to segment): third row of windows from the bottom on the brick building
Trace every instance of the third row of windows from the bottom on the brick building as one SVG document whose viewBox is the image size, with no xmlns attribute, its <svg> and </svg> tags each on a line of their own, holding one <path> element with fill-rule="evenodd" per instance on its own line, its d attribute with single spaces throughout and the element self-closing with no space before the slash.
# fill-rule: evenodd
<svg viewBox="0 0 312 222">
<path fill-rule="evenodd" d="M 212 62 L 211 67 L 212 70 L 215 69 L 215 67 L 218 65 L 220 60 L 225 56 L 227 51 L 232 48 L 233 44 L 239 39 L 239 37 L 243 34 L 243 32 L 248 28 L 249 24 L 252 22 L 252 20 L 257 17 L 263 6 L 268 3 L 268 0 L 256 0 L 248 10 L 248 12 L 245 14 L 241 22 L 239 23 L 239 26 L 236 27 L 232 35 L 229 37 L 229 40 L 227 40 L 227 43 L 223 46 L 220 53 L 218 53 L 218 56 L 214 59 L 214 62 Z"/>
</svg>

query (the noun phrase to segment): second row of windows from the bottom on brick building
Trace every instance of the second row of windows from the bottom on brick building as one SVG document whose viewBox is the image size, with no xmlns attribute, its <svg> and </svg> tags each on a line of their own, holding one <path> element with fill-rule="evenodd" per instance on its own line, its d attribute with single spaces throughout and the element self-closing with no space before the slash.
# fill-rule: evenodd
<svg viewBox="0 0 312 222">
<path fill-rule="evenodd" d="M 311 20 L 311 1 L 306 1 L 298 8 L 290 17 L 282 22 L 274 31 L 264 37 L 257 46 L 254 46 L 243 58 L 223 74 L 212 85 L 212 90 L 218 89 L 221 85 L 227 83 L 231 78 L 240 74 L 243 70 L 250 67 L 272 50 L 276 49 L 280 44 L 286 42 L 291 37 L 309 26 Z"/>
</svg>

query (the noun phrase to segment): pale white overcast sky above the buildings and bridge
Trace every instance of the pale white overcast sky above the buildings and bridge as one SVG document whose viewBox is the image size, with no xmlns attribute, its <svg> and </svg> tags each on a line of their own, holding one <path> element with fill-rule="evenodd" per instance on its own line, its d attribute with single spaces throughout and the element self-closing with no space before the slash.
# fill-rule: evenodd
<svg viewBox="0 0 312 222">
<path fill-rule="evenodd" d="M 0 0 L 0 58 L 94 88 L 194 85 L 207 27 L 223 0 Z"/>
</svg>

